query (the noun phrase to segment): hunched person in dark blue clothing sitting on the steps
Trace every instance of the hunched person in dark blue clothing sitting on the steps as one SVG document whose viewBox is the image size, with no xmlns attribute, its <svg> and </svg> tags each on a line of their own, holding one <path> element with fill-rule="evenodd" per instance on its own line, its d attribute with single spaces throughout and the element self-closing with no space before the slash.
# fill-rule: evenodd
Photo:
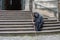
<svg viewBox="0 0 60 40">
<path fill-rule="evenodd" d="M 37 12 L 34 13 L 34 22 L 35 22 L 36 31 L 41 31 L 43 25 L 43 17 Z"/>
</svg>

